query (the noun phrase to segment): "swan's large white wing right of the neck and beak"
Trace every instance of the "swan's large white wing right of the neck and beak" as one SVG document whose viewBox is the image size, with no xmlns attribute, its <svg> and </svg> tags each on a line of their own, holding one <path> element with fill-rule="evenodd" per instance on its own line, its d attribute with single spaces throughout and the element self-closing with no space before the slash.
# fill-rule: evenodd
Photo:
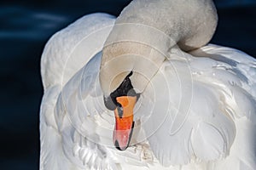
<svg viewBox="0 0 256 170">
<path fill-rule="evenodd" d="M 231 48 L 208 45 L 190 54 L 172 50 L 142 95 L 138 110 L 146 115 L 143 128 L 160 162 L 183 165 L 229 157 L 232 144 L 242 140 L 237 128 L 247 127 L 239 124 L 241 119 L 255 123 L 255 73 L 255 59 Z M 252 137 L 243 142 L 254 148 Z M 236 159 L 247 156 L 255 157 L 246 150 Z M 242 162 L 255 166 L 250 160 Z"/>
</svg>

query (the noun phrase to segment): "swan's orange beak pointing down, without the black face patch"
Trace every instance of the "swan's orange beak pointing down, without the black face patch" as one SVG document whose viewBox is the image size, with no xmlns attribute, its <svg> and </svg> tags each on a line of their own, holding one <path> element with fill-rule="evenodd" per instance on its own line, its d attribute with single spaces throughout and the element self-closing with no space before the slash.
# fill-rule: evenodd
<svg viewBox="0 0 256 170">
<path fill-rule="evenodd" d="M 137 102 L 136 96 L 120 96 L 116 101 L 121 105 L 114 110 L 115 127 L 113 144 L 119 150 L 126 150 L 130 144 L 133 122 L 133 108 Z"/>
</svg>

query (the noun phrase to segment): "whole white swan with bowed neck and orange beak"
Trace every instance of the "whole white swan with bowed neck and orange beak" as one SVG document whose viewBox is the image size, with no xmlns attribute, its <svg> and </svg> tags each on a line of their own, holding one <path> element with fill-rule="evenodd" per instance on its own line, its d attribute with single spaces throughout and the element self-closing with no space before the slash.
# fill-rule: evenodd
<svg viewBox="0 0 256 170">
<path fill-rule="evenodd" d="M 209 0 L 136 0 L 57 32 L 40 169 L 256 169 L 256 61 L 206 45 L 216 23 Z"/>
</svg>

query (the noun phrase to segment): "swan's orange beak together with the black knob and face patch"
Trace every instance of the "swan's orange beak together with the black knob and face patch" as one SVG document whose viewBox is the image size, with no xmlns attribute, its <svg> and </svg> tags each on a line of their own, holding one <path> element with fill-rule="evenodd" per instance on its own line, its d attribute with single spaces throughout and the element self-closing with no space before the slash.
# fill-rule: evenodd
<svg viewBox="0 0 256 170">
<path fill-rule="evenodd" d="M 134 127 L 133 109 L 140 94 L 137 94 L 131 84 L 132 71 L 124 81 L 108 97 L 104 97 L 106 107 L 114 111 L 115 127 L 113 144 L 118 150 L 125 150 L 131 141 Z"/>
</svg>

